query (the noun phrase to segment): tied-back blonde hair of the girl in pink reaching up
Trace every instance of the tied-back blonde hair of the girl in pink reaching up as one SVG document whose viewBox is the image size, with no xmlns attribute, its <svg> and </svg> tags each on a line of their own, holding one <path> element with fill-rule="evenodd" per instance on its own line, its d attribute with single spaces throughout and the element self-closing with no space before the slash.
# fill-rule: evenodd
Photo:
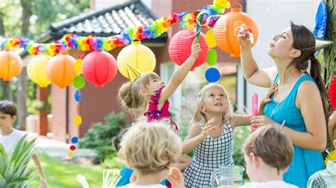
<svg viewBox="0 0 336 188">
<path fill-rule="evenodd" d="M 145 98 L 140 95 L 140 90 L 143 88 L 147 89 L 150 81 L 156 78 L 159 78 L 159 75 L 154 72 L 148 72 L 142 74 L 133 82 L 128 81 L 124 83 L 121 88 L 119 88 L 118 93 L 121 106 L 124 107 L 125 110 L 133 112 L 135 116 L 144 112 L 147 101 L 144 101 Z"/>
</svg>

